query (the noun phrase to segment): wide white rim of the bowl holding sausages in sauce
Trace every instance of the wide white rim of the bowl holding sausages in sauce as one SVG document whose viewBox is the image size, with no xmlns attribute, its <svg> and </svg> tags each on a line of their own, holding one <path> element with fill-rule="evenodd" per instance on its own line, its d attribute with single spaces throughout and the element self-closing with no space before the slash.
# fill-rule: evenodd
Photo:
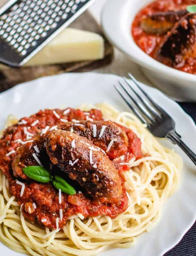
<svg viewBox="0 0 196 256">
<path fill-rule="evenodd" d="M 136 45 L 130 32 L 133 19 L 141 8 L 144 8 L 147 4 L 153 1 L 141 1 L 142 4 L 139 4 L 138 8 L 133 8 L 137 7 L 136 4 L 134 5 L 134 3 L 136 2 L 138 3 L 138 0 L 108 0 L 106 2 L 101 13 L 101 25 L 103 28 L 103 32 L 108 40 L 116 48 L 128 55 L 134 62 L 143 66 L 144 68 L 148 68 L 156 73 L 157 71 L 159 71 L 170 78 L 183 79 L 189 82 L 196 82 L 196 75 L 168 67 L 147 55 L 138 47 L 138 45 Z M 132 7 L 132 15 L 130 11 L 127 11 L 130 10 L 128 8 L 128 6 L 130 7 L 130 5 Z M 122 28 L 122 24 L 126 24 L 126 27 Z M 114 26 L 115 31 L 112 31 L 112 29 L 110 28 L 114 28 Z M 125 33 L 127 33 L 127 35 L 125 35 Z M 118 36 L 115 36 L 115 34 Z M 124 44 L 122 44 L 122 41 L 120 41 L 120 36 L 122 37 L 122 39 L 125 40 L 122 40 Z M 129 44 L 129 48 L 127 47 L 128 45 L 125 46 L 127 42 Z M 186 87 L 187 86 L 192 87 L 191 85 L 186 85 Z"/>
</svg>

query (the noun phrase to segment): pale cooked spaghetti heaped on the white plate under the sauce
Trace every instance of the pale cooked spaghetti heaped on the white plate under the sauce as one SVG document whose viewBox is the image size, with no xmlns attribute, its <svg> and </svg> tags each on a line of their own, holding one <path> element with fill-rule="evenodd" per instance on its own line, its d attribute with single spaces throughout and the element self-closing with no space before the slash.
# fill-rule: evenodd
<svg viewBox="0 0 196 256">
<path fill-rule="evenodd" d="M 91 107 L 95 108 L 95 106 L 82 105 L 80 109 L 89 111 Z M 12 250 L 35 256 L 68 254 L 87 256 L 96 255 L 110 248 L 130 247 L 139 234 L 149 231 L 158 221 L 164 202 L 178 188 L 182 160 L 174 150 L 162 146 L 133 114 L 120 113 L 108 104 L 99 104 L 96 105 L 96 108 L 101 110 L 105 121 L 109 119 L 120 126 L 131 129 L 141 140 L 141 156 L 130 154 L 130 158 L 128 158 L 126 155 L 127 162 L 124 155 L 118 159 L 126 190 L 125 196 L 123 196 L 126 207 L 116 207 L 118 209 L 116 216 L 112 215 L 112 211 L 110 212 L 109 209 L 107 209 L 109 214 L 95 214 L 96 217 L 86 217 L 81 213 L 70 214 L 62 229 L 58 223 L 54 226 L 52 220 L 48 226 L 44 227 L 36 223 L 34 218 L 29 218 L 28 209 L 25 213 L 26 208 L 24 209 L 24 204 L 21 204 L 22 201 L 16 200 L 16 197 L 12 195 L 14 193 L 13 188 L 10 190 L 8 175 L 5 176 L 0 172 L 0 240 Z M 56 111 L 53 113 L 56 118 L 60 118 Z M 61 119 L 62 122 L 66 122 L 64 118 Z M 6 127 L 16 122 L 14 117 L 11 117 Z M 24 126 L 25 118 L 20 122 Z M 32 118 L 33 126 L 36 126 L 36 123 L 35 117 Z M 52 130 L 55 130 L 56 127 L 52 127 Z M 27 137 L 31 135 L 29 129 L 24 129 L 24 131 L 26 131 Z M 46 124 L 42 132 L 45 131 Z M 95 131 L 94 129 L 94 135 Z M 11 131 L 9 132 L 11 133 Z M 15 138 L 15 141 L 17 139 Z M 18 140 L 20 142 L 20 139 Z M 111 144 L 108 145 L 107 150 L 112 146 Z M 72 143 L 72 147 L 75 147 L 74 143 Z M 15 150 L 11 148 L 6 155 L 10 156 L 14 153 Z M 121 162 L 119 163 L 119 161 Z M 19 195 L 16 193 L 18 198 L 20 194 L 26 193 L 27 188 L 23 188 L 23 184 L 18 181 L 16 187 L 14 185 L 14 188 L 20 187 Z M 81 193 L 79 191 L 79 194 Z M 36 208 L 39 205 L 33 207 Z M 98 212 L 96 211 L 96 213 Z M 103 213 L 103 211 L 100 212 Z M 60 212 L 60 218 L 64 220 L 62 212 Z M 39 216 L 37 219 L 39 221 Z M 41 220 L 46 221 L 43 217 Z"/>
</svg>

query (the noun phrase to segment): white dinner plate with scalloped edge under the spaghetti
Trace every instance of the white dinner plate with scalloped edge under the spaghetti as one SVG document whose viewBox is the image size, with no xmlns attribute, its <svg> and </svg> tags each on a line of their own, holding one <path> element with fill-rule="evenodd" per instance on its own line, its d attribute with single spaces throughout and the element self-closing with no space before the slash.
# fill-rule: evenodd
<svg viewBox="0 0 196 256">
<path fill-rule="evenodd" d="M 0 94 L 0 128 L 6 117 L 13 114 L 18 118 L 29 116 L 40 109 L 77 107 L 81 103 L 95 104 L 108 102 L 120 111 L 129 111 L 116 93 L 113 85 L 122 79 L 115 75 L 96 73 L 62 74 L 30 81 Z M 182 139 L 196 152 L 196 127 L 193 120 L 182 108 L 160 91 L 142 85 L 165 110 L 174 118 L 176 129 Z M 161 256 L 177 244 L 196 218 L 196 168 L 188 157 L 177 147 L 166 141 L 182 156 L 184 167 L 179 190 L 166 202 L 163 216 L 157 225 L 138 236 L 131 248 L 112 249 L 102 256 Z M 0 244 L 2 255 L 21 255 Z"/>
</svg>

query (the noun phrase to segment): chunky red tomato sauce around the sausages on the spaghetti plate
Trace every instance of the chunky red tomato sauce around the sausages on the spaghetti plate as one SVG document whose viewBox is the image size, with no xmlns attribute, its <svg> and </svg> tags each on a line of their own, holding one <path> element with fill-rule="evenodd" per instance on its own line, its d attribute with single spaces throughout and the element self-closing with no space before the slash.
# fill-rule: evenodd
<svg viewBox="0 0 196 256">
<path fill-rule="evenodd" d="M 66 115 L 63 114 L 64 110 L 55 109 L 60 118 L 71 121 L 86 120 L 86 112 L 70 108 L 70 112 Z M 89 118 L 95 121 L 103 120 L 102 113 L 99 110 L 92 109 L 89 111 Z M 54 188 L 51 183 L 41 184 L 36 181 L 21 180 L 25 183 L 25 190 L 22 196 L 21 185 L 16 183 L 16 178 L 13 176 L 11 163 L 15 156 L 15 153 L 7 155 L 11 151 L 16 151 L 20 146 L 16 140 L 26 141 L 26 134 L 24 133 L 24 127 L 27 127 L 27 131 L 35 135 L 48 126 L 54 126 L 62 124 L 59 118 L 57 118 L 52 110 L 40 110 L 35 115 L 29 118 L 24 117 L 21 120 L 25 124 L 16 124 L 8 127 L 3 137 L 0 140 L 0 170 L 8 177 L 10 192 L 16 198 L 18 203 L 23 204 L 24 217 L 30 221 L 38 221 L 40 224 L 44 224 L 49 228 L 56 228 L 56 218 L 59 218 L 59 209 L 63 210 L 63 220 L 59 221 L 59 227 L 66 223 L 68 217 L 81 213 L 84 217 L 95 217 L 98 215 L 108 215 L 111 218 L 115 218 L 118 214 L 124 212 L 128 207 L 128 198 L 125 188 L 123 188 L 122 197 L 116 204 L 97 204 L 95 201 L 87 198 L 81 191 L 77 191 L 75 195 L 67 195 L 62 193 L 62 203 L 58 202 L 58 190 Z M 21 123 L 21 120 L 19 123 Z M 31 126 L 33 122 L 39 120 L 39 123 Z M 132 157 L 140 158 L 141 154 L 141 141 L 130 130 L 122 127 L 129 139 L 128 154 L 121 159 L 121 162 L 127 162 Z M 6 156 L 7 155 L 7 156 Z M 118 162 L 118 161 L 117 161 Z M 127 170 L 126 165 L 119 166 L 119 174 L 122 170 Z M 124 187 L 124 180 L 122 178 L 122 185 Z M 36 204 L 36 208 L 33 207 L 33 203 Z M 45 222 L 41 220 L 46 219 Z"/>
</svg>

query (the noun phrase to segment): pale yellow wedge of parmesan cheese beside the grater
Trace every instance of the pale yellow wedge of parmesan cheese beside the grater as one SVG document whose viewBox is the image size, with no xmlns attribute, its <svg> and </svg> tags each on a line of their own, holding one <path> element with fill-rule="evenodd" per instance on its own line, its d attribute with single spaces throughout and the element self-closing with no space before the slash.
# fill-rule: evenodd
<svg viewBox="0 0 196 256">
<path fill-rule="evenodd" d="M 102 36 L 76 28 L 65 28 L 24 66 L 97 60 L 103 57 Z M 0 65 L 0 68 L 3 67 Z"/>
</svg>

